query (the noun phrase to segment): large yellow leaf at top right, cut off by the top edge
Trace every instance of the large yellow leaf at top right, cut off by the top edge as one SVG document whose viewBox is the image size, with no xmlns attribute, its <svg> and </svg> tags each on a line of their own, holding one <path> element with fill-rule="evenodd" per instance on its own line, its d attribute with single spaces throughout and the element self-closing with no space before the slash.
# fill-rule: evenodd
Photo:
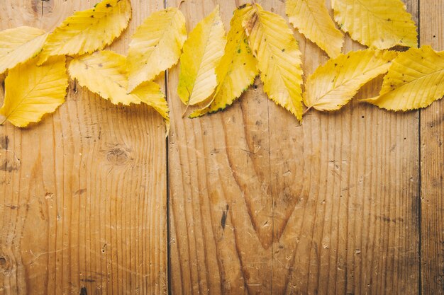
<svg viewBox="0 0 444 295">
<path fill-rule="evenodd" d="M 332 0 L 335 21 L 368 47 L 417 47 L 416 25 L 401 0 Z"/>
</svg>

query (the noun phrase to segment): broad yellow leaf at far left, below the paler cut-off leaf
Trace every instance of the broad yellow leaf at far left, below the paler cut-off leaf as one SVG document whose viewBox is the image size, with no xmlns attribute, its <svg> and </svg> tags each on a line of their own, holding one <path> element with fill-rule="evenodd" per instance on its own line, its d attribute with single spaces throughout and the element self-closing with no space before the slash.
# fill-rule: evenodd
<svg viewBox="0 0 444 295">
<path fill-rule="evenodd" d="M 65 102 L 67 87 L 65 57 L 52 57 L 43 66 L 37 59 L 18 64 L 6 77 L 0 115 L 17 127 L 38 122 Z"/>
</svg>

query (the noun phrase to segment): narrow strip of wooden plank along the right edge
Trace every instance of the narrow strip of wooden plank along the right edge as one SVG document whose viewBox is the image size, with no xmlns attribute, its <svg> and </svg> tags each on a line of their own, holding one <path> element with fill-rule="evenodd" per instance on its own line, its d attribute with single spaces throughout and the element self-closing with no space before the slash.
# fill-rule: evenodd
<svg viewBox="0 0 444 295">
<path fill-rule="evenodd" d="M 444 50 L 444 2 L 420 0 L 421 45 Z M 421 282 L 444 294 L 444 102 L 421 110 Z"/>
</svg>

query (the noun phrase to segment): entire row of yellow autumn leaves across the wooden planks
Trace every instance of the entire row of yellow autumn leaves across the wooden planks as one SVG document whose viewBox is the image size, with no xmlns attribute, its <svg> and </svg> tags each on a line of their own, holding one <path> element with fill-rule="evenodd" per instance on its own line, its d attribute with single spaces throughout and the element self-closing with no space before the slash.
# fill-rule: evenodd
<svg viewBox="0 0 444 295">
<path fill-rule="evenodd" d="M 444 96 L 444 52 L 417 48 L 416 25 L 401 0 L 331 1 L 340 29 L 368 49 L 342 53 L 343 33 L 324 0 L 287 0 L 289 22 L 331 57 L 306 77 L 304 93 L 292 29 L 254 1 L 234 11 L 227 36 L 218 7 L 188 36 L 179 8 L 152 13 L 131 37 L 127 57 L 103 49 L 128 26 L 130 0 L 101 1 L 74 13 L 52 33 L 4 30 L 0 74 L 8 74 L 0 115 L 25 127 L 54 112 L 65 102 L 68 69 L 89 91 L 114 104 L 150 105 L 169 125 L 165 95 L 153 80 L 179 59 L 177 94 L 187 109 L 201 107 L 189 117 L 231 105 L 257 74 L 267 96 L 298 120 L 311 108 L 338 110 L 365 83 L 386 73 L 379 96 L 364 101 L 387 110 L 414 110 Z M 389 50 L 394 47 L 411 48 Z"/>
</svg>

